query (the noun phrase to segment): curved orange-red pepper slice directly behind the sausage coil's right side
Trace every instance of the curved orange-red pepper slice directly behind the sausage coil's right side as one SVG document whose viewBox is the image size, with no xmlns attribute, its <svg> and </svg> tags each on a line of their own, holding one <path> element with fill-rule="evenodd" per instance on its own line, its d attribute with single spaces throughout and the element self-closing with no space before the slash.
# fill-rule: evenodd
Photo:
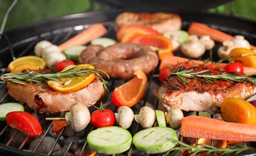
<svg viewBox="0 0 256 156">
<path fill-rule="evenodd" d="M 167 37 L 162 35 L 136 35 L 130 38 L 129 43 L 138 43 L 144 46 L 150 46 L 158 50 L 160 60 L 166 56 L 173 56 L 173 43 Z"/>
</svg>

